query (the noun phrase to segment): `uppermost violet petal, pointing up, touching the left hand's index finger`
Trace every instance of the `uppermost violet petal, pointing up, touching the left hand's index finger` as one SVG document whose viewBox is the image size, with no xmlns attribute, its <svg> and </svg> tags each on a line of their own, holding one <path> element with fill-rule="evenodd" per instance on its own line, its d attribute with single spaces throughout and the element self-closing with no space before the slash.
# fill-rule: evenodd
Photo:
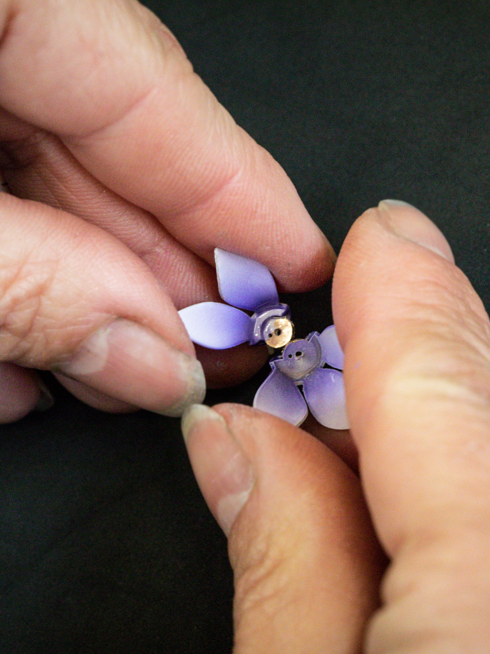
<svg viewBox="0 0 490 654">
<path fill-rule="evenodd" d="M 220 296 L 225 302 L 255 311 L 263 304 L 279 301 L 274 277 L 263 264 L 218 247 L 214 249 L 214 260 Z"/>
</svg>

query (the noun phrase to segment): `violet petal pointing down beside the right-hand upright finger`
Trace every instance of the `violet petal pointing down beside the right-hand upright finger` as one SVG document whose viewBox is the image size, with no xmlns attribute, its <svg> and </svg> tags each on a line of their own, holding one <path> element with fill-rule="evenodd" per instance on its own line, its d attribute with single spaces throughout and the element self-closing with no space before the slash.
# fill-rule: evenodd
<svg viewBox="0 0 490 654">
<path fill-rule="evenodd" d="M 317 368 L 302 381 L 304 397 L 320 424 L 348 429 L 344 375 L 338 370 Z"/>
</svg>

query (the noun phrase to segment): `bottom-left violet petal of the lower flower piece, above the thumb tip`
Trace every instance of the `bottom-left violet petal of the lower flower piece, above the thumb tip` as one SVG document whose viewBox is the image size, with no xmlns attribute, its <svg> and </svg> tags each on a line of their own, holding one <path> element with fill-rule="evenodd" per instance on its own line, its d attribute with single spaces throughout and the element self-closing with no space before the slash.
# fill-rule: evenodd
<svg viewBox="0 0 490 654">
<path fill-rule="evenodd" d="M 292 379 L 273 368 L 253 398 L 253 407 L 267 411 L 299 427 L 308 415 L 301 390 Z"/>
</svg>

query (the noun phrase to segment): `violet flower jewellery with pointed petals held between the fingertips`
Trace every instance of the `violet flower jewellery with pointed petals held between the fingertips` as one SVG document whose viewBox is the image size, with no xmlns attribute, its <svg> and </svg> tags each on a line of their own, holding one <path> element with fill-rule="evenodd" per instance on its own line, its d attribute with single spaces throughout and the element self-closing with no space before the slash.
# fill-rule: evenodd
<svg viewBox="0 0 490 654">
<path fill-rule="evenodd" d="M 310 407 L 321 424 L 348 428 L 344 379 L 333 370 L 342 370 L 344 362 L 334 326 L 291 341 L 291 312 L 279 301 L 269 269 L 219 248 L 214 258 L 220 296 L 228 304 L 201 302 L 181 309 L 178 313 L 191 340 L 215 350 L 245 342 L 265 342 L 276 351 L 284 348 L 270 360 L 272 372 L 257 390 L 253 406 L 295 425 L 304 421 Z"/>
</svg>

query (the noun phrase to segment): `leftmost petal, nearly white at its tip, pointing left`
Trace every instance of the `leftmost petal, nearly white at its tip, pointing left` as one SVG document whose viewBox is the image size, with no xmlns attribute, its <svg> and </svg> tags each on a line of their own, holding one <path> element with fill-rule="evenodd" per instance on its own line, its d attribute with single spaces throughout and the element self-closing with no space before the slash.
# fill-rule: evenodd
<svg viewBox="0 0 490 654">
<path fill-rule="evenodd" d="M 178 312 L 191 341 L 213 350 L 225 350 L 248 341 L 250 316 L 220 302 L 201 302 Z"/>
</svg>

